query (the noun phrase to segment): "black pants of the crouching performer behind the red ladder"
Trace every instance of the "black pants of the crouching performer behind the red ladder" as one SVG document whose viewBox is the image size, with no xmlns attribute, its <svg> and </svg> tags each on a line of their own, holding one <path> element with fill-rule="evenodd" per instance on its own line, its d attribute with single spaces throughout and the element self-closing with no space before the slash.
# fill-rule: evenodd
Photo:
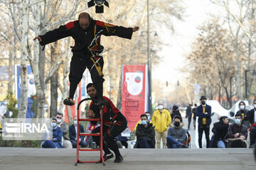
<svg viewBox="0 0 256 170">
<path fill-rule="evenodd" d="M 121 134 L 125 129 L 127 128 L 127 120 L 124 118 L 122 121 L 117 121 L 116 123 L 113 123 L 111 126 L 103 125 L 103 150 L 105 154 L 110 154 L 110 149 L 114 152 L 116 156 L 120 155 L 117 142 L 114 137 Z M 92 133 L 100 132 L 100 126 L 92 130 Z M 100 137 L 99 136 L 93 136 L 93 141 L 97 145 L 100 145 Z M 109 149 L 110 148 L 110 149 Z"/>
</svg>

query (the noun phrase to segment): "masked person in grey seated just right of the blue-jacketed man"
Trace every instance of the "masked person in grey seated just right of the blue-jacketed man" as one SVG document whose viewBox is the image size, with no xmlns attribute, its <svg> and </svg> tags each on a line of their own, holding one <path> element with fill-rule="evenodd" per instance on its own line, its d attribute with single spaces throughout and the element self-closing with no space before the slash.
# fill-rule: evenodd
<svg viewBox="0 0 256 170">
<path fill-rule="evenodd" d="M 72 149 L 72 143 L 70 142 L 68 137 L 68 124 L 61 121 L 63 118 L 63 113 L 56 113 L 55 118 L 57 120 L 58 128 L 63 131 L 63 147 L 67 149 Z"/>
</svg>

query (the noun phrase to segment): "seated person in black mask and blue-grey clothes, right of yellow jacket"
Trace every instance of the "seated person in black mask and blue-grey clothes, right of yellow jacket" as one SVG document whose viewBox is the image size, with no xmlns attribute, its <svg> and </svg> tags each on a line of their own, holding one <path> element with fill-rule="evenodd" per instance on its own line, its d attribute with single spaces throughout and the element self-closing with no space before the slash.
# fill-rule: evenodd
<svg viewBox="0 0 256 170">
<path fill-rule="evenodd" d="M 187 148 L 183 145 L 186 141 L 186 130 L 181 127 L 181 117 L 174 117 L 174 127 L 169 128 L 168 136 L 166 137 L 168 148 Z"/>
</svg>

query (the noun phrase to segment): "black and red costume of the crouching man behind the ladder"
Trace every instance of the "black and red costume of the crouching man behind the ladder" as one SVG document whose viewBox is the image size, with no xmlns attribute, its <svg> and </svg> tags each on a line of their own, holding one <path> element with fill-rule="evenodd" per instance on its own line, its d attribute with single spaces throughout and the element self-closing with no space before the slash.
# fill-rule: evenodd
<svg viewBox="0 0 256 170">
<path fill-rule="evenodd" d="M 103 150 L 105 154 L 110 153 L 110 149 L 114 152 L 116 156 L 119 156 L 119 149 L 117 147 L 117 142 L 114 139 L 117 135 L 121 134 L 127 128 L 127 120 L 122 115 L 122 113 L 114 106 L 110 98 L 103 96 L 104 100 L 108 101 L 107 106 L 103 107 Z M 90 109 L 95 113 L 95 118 L 100 118 L 100 108 L 93 101 L 90 103 Z M 96 124 L 97 122 L 91 122 Z M 92 133 L 100 132 L 100 126 L 92 130 Z M 93 140 L 97 145 L 100 145 L 100 137 L 92 136 Z M 109 149 L 110 148 L 110 149 Z"/>
</svg>

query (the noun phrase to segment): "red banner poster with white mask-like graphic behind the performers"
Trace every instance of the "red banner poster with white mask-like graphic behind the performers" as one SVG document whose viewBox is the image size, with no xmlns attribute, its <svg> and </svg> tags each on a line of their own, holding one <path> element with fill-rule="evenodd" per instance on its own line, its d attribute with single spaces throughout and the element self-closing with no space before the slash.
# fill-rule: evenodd
<svg viewBox="0 0 256 170">
<path fill-rule="evenodd" d="M 140 115 L 147 107 L 147 67 L 145 65 L 124 65 L 122 72 L 122 114 L 128 127 L 134 130 Z"/>
</svg>

